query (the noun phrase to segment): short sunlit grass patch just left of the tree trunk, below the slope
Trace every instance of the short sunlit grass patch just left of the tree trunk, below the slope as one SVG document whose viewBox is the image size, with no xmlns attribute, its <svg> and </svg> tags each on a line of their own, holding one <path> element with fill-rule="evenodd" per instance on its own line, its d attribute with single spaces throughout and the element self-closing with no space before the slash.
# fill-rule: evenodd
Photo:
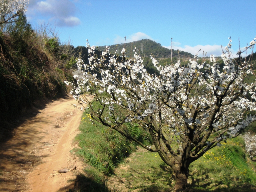
<svg viewBox="0 0 256 192">
<path fill-rule="evenodd" d="M 122 181 L 130 191 L 153 192 L 170 191 L 174 185 L 172 178 L 172 170 L 157 153 L 140 147 L 118 166 L 110 180 Z"/>
</svg>

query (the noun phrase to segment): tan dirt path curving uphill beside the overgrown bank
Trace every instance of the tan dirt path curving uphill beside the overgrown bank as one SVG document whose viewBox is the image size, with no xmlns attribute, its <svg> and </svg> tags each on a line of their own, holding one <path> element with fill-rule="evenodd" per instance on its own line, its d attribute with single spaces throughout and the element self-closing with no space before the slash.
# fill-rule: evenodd
<svg viewBox="0 0 256 192">
<path fill-rule="evenodd" d="M 67 191 L 82 163 L 70 154 L 82 112 L 72 98 L 47 104 L 0 146 L 0 191 Z M 68 173 L 54 171 L 76 166 Z"/>
</svg>

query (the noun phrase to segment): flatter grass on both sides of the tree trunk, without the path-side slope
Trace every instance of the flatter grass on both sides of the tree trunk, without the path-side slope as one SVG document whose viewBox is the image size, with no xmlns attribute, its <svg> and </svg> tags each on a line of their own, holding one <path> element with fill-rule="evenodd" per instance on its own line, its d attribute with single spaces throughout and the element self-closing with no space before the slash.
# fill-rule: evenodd
<svg viewBox="0 0 256 192">
<path fill-rule="evenodd" d="M 242 138 L 237 137 L 193 162 L 189 167 L 188 191 L 256 191 L 256 163 L 247 157 L 243 147 Z M 172 170 L 159 155 L 142 148 L 125 159 L 111 178 L 125 178 L 119 185 L 131 191 L 165 192 L 175 184 Z"/>
</svg>

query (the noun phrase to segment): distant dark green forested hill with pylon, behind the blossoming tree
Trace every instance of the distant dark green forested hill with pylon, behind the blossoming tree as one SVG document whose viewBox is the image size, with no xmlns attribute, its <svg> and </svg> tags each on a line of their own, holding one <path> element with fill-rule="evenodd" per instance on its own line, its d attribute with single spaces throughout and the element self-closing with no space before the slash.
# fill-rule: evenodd
<svg viewBox="0 0 256 192">
<path fill-rule="evenodd" d="M 99 46 L 99 50 L 103 51 L 105 50 L 106 46 Z M 140 51 L 140 55 L 142 57 L 150 57 L 152 54 L 156 58 L 168 58 L 171 57 L 171 50 L 168 48 L 163 47 L 160 43 L 157 43 L 155 41 L 152 41 L 150 39 L 142 39 L 139 41 L 133 41 L 130 43 L 125 44 L 116 44 L 116 45 L 110 45 L 110 52 L 114 53 L 115 51 L 118 52 L 118 54 L 121 54 L 121 51 L 123 48 L 127 51 L 127 56 L 130 56 L 132 54 L 133 56 L 133 49 L 136 47 Z M 131 52 L 132 51 L 132 52 Z M 181 58 L 183 57 L 194 57 L 194 55 L 185 52 L 185 51 L 179 51 L 179 55 Z M 178 57 L 178 50 L 172 50 L 172 56 Z"/>
</svg>

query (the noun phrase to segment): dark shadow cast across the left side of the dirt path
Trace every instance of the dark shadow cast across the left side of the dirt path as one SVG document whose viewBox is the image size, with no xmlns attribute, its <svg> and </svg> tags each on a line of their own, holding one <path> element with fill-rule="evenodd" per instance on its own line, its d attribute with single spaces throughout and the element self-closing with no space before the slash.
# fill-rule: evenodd
<svg viewBox="0 0 256 192">
<path fill-rule="evenodd" d="M 66 99 L 68 95 L 61 98 Z M 44 118 L 35 117 L 51 102 L 54 100 L 42 99 L 10 120 L 0 118 L 0 191 L 27 190 L 26 175 L 42 162 L 42 158 L 47 157 L 25 149 L 32 140 L 40 141 L 44 129 L 36 130 L 33 124 L 41 126 L 46 122 Z M 21 126 L 23 128 L 17 130 Z"/>
</svg>

